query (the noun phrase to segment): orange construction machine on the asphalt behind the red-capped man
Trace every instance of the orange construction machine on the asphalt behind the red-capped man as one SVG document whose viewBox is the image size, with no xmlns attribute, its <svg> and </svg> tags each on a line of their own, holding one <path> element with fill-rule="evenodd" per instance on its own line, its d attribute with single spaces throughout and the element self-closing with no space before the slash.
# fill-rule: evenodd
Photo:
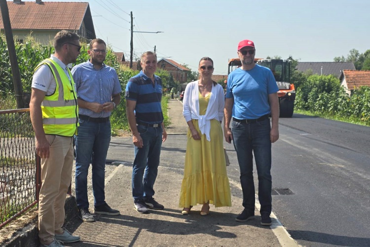
<svg viewBox="0 0 370 247">
<path fill-rule="evenodd" d="M 255 58 L 255 63 L 267 67 L 272 71 L 279 87 L 278 97 L 280 106 L 280 118 L 291 118 L 294 112 L 296 89 L 291 83 L 291 61 L 282 59 Z M 241 67 L 239 58 L 229 59 L 228 74 Z"/>
</svg>

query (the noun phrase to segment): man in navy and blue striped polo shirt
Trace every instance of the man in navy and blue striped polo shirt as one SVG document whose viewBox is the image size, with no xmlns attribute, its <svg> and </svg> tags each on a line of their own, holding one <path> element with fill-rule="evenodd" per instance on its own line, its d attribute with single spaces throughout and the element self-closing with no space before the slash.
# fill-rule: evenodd
<svg viewBox="0 0 370 247">
<path fill-rule="evenodd" d="M 132 77 L 126 86 L 127 119 L 135 146 L 132 170 L 132 196 L 135 209 L 148 213 L 151 209 L 163 209 L 154 196 L 162 142 L 167 139 L 161 108 L 162 80 L 154 75 L 157 55 L 151 51 L 141 56 L 143 70 Z"/>
</svg>

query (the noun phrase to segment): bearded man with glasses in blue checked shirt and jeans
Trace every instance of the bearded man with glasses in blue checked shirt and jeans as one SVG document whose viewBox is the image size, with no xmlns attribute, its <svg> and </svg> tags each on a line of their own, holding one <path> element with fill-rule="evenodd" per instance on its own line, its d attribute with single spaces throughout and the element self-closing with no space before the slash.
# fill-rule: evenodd
<svg viewBox="0 0 370 247">
<path fill-rule="evenodd" d="M 79 107 L 78 136 L 75 136 L 76 201 L 85 222 L 95 221 L 89 211 L 87 173 L 92 165 L 94 212 L 119 215 L 105 201 L 105 165 L 111 142 L 110 116 L 121 100 L 121 85 L 116 71 L 104 64 L 106 43 L 101 39 L 90 42 L 87 53 L 90 60 L 74 66 L 72 75 L 76 84 Z"/>
</svg>

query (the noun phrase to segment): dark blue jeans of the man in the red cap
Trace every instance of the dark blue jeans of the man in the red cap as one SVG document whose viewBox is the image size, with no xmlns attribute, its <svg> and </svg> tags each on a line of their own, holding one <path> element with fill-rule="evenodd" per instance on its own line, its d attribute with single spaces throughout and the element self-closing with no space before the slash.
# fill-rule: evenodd
<svg viewBox="0 0 370 247">
<path fill-rule="evenodd" d="M 258 198 L 260 213 L 271 213 L 271 141 L 270 120 L 247 124 L 232 121 L 231 132 L 240 167 L 240 183 L 243 190 L 243 206 L 255 210 L 255 184 L 253 181 L 253 153 L 258 174 Z M 253 153 L 252 153 L 253 152 Z"/>
</svg>

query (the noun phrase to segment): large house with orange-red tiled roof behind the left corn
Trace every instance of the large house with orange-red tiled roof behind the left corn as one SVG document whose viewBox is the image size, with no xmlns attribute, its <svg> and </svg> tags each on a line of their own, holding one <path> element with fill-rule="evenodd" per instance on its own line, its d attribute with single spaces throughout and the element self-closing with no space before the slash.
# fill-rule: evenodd
<svg viewBox="0 0 370 247">
<path fill-rule="evenodd" d="M 13 0 L 6 3 L 13 36 L 20 42 L 31 35 L 36 41 L 48 44 L 61 30 L 77 33 L 81 41 L 96 39 L 88 2 Z M 0 13 L 0 30 L 3 29 Z"/>
</svg>

